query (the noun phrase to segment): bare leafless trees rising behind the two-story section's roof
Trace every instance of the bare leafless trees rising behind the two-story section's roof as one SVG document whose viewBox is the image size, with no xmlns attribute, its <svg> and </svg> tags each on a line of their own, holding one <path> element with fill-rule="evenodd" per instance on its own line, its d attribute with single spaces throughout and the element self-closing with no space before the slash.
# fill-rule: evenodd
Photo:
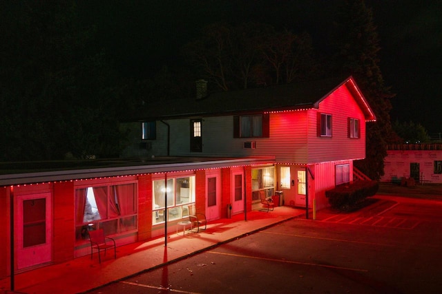
<svg viewBox="0 0 442 294">
<path fill-rule="evenodd" d="M 278 31 L 263 23 L 213 23 L 184 46 L 194 74 L 219 90 L 291 83 L 318 76 L 309 34 Z"/>
</svg>

